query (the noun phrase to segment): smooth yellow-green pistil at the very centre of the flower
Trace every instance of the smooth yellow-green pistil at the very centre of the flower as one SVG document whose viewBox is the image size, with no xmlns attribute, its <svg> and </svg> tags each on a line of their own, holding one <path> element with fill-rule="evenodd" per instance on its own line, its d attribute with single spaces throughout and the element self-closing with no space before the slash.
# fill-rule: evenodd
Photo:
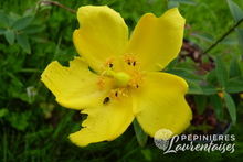
<svg viewBox="0 0 243 162">
<path fill-rule="evenodd" d="M 127 86 L 130 82 L 130 76 L 125 72 L 114 72 L 112 68 L 106 69 L 106 75 L 113 76 L 117 86 Z"/>
</svg>

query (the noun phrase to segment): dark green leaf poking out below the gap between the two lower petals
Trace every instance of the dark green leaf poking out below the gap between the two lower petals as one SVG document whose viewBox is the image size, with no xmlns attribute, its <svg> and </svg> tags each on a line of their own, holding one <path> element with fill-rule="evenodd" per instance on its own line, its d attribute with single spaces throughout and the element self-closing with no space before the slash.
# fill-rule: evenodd
<svg viewBox="0 0 243 162">
<path fill-rule="evenodd" d="M 136 133 L 139 145 L 144 148 L 145 144 L 147 143 L 148 134 L 144 132 L 144 130 L 139 126 L 136 118 L 134 119 L 134 129 L 135 129 L 135 133 Z"/>
</svg>

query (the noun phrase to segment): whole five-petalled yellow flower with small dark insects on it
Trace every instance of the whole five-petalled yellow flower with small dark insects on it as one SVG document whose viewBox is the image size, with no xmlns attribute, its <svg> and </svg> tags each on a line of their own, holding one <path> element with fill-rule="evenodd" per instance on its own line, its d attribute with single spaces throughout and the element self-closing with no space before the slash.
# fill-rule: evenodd
<svg viewBox="0 0 243 162">
<path fill-rule="evenodd" d="M 42 74 L 60 105 L 88 115 L 71 141 L 80 147 L 112 141 L 135 118 L 150 137 L 160 129 L 181 133 L 192 118 L 184 100 L 188 85 L 159 72 L 182 44 L 184 19 L 178 9 L 160 18 L 145 14 L 130 39 L 123 18 L 106 6 L 81 7 L 77 20 L 73 41 L 82 58 L 70 67 L 54 61 Z"/>
</svg>

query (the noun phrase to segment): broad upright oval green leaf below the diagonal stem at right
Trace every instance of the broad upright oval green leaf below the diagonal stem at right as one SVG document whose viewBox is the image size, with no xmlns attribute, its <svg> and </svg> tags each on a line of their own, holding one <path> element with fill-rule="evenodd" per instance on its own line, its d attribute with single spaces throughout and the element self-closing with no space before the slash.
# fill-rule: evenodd
<svg viewBox="0 0 243 162">
<path fill-rule="evenodd" d="M 225 87 L 229 79 L 229 73 L 225 63 L 220 55 L 216 55 L 216 78 L 222 87 Z"/>
</svg>

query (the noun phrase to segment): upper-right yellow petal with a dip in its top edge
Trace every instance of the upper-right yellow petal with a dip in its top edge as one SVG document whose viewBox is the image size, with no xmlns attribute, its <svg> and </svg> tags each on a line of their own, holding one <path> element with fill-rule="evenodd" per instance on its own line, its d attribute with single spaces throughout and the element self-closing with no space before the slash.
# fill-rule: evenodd
<svg viewBox="0 0 243 162">
<path fill-rule="evenodd" d="M 180 52 L 184 21 L 177 8 L 160 18 L 145 14 L 131 34 L 126 53 L 135 54 L 141 68 L 161 71 Z"/>
</svg>

